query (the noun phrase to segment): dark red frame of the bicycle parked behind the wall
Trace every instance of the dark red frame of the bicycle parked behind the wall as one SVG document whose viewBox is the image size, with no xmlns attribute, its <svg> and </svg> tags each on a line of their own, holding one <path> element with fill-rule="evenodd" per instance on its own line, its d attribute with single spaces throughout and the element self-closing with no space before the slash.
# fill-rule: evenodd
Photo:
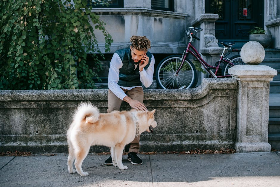
<svg viewBox="0 0 280 187">
<path fill-rule="evenodd" d="M 214 77 L 214 78 L 230 77 L 231 75 L 217 76 L 217 72 L 218 72 L 218 69 L 220 68 L 220 64 L 221 64 L 222 61 L 224 61 L 225 63 L 229 63 L 229 64 L 234 66 L 234 64 L 229 59 L 225 59 L 224 58 L 224 54 L 225 54 L 225 50 L 226 49 L 228 49 L 228 48 L 224 47 L 224 50 L 223 50 L 223 52 L 221 54 L 221 57 L 220 57 L 220 60 L 218 61 L 217 66 L 211 66 L 211 65 L 207 64 L 203 60 L 203 58 L 200 56 L 198 51 L 192 45 L 192 38 L 190 38 L 190 40 L 188 42 L 188 45 L 187 45 L 186 49 L 184 50 L 184 52 L 182 54 L 181 65 L 180 65 L 179 69 L 176 71 L 175 75 L 178 75 L 178 73 L 180 72 L 181 68 L 183 67 L 183 64 L 184 64 L 184 61 L 185 61 L 186 57 L 190 53 L 191 55 L 193 55 L 200 62 L 200 64 L 206 69 L 207 72 L 209 72 L 209 74 L 211 74 L 212 77 Z M 216 69 L 215 73 L 212 72 L 211 69 Z"/>
</svg>

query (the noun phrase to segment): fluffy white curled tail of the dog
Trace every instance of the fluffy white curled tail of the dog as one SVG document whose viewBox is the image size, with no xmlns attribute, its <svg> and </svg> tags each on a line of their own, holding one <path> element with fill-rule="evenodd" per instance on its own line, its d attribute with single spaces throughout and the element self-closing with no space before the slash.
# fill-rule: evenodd
<svg viewBox="0 0 280 187">
<path fill-rule="evenodd" d="M 99 110 L 91 102 L 82 102 L 77 106 L 74 120 L 95 123 L 99 120 Z"/>
</svg>

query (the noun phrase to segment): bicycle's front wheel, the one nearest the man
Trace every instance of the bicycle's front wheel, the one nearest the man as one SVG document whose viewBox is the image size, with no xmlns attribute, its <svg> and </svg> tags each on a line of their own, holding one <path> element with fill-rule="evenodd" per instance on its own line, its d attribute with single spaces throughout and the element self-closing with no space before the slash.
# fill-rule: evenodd
<svg viewBox="0 0 280 187">
<path fill-rule="evenodd" d="M 171 55 L 164 58 L 156 69 L 155 78 L 157 84 L 163 89 L 193 88 L 196 84 L 195 66 L 189 59 L 185 59 L 181 70 L 181 56 Z"/>
</svg>

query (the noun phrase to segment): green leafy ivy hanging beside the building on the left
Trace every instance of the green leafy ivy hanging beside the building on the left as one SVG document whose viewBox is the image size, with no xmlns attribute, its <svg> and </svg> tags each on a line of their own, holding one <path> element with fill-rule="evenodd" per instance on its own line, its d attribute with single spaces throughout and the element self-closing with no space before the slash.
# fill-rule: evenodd
<svg viewBox="0 0 280 187">
<path fill-rule="evenodd" d="M 87 0 L 0 1 L 0 89 L 90 89 L 113 42 Z M 91 54 L 94 71 L 86 64 Z M 100 54 L 100 55 L 98 55 Z M 77 76 L 78 75 L 78 76 Z"/>
</svg>

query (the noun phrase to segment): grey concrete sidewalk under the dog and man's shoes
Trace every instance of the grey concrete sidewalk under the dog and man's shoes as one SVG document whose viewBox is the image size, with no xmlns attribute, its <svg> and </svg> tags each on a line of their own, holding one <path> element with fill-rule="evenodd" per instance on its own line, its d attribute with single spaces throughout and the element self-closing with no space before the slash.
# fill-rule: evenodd
<svg viewBox="0 0 280 187">
<path fill-rule="evenodd" d="M 70 174 L 68 154 L 0 156 L 0 186 L 280 186 L 280 153 L 139 154 L 127 170 L 105 166 L 109 155 L 90 153 L 87 177 Z"/>
</svg>

